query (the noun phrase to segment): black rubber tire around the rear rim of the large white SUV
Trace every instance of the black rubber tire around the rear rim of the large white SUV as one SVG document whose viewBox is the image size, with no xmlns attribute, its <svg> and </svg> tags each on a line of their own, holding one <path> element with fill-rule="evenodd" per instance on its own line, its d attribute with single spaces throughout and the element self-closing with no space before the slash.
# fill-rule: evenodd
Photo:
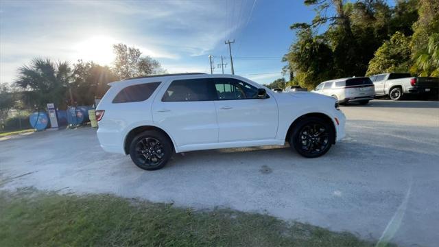
<svg viewBox="0 0 439 247">
<path fill-rule="evenodd" d="M 165 156 L 163 156 L 161 163 L 159 163 L 158 165 L 147 166 L 147 165 L 143 165 L 142 163 L 140 163 L 137 160 L 136 150 L 135 150 L 136 144 L 139 142 L 139 140 L 144 139 L 145 137 L 155 138 L 158 141 L 160 141 L 161 144 L 163 145 Z M 166 163 L 169 161 L 169 158 L 171 158 L 172 152 L 173 152 L 173 149 L 172 149 L 171 143 L 169 141 L 169 138 L 167 138 L 165 136 L 165 134 L 158 132 L 158 131 L 155 131 L 155 130 L 146 130 L 144 132 L 141 132 L 140 134 L 137 134 L 137 136 L 134 137 L 134 139 L 132 139 L 132 141 L 130 143 L 130 157 L 131 157 L 132 162 L 135 165 L 137 165 L 137 167 L 139 167 L 141 169 L 145 169 L 147 171 L 154 171 L 156 169 L 163 168 L 166 165 Z"/>
</svg>

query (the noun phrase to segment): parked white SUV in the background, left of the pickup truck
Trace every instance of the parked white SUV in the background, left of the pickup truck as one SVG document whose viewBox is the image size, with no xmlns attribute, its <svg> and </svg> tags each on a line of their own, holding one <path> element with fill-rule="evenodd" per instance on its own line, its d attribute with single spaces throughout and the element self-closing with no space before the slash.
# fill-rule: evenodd
<svg viewBox="0 0 439 247">
<path fill-rule="evenodd" d="M 329 80 L 318 84 L 313 91 L 334 97 L 340 104 L 368 104 L 375 96 L 375 87 L 367 77 Z"/>
</svg>

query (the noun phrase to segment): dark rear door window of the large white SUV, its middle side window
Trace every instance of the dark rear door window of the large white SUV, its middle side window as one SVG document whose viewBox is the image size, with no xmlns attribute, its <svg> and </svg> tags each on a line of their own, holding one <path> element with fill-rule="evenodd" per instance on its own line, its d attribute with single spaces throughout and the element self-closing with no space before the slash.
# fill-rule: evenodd
<svg viewBox="0 0 439 247">
<path fill-rule="evenodd" d="M 163 102 L 192 102 L 212 100 L 208 78 L 174 80 L 163 95 Z"/>
</svg>

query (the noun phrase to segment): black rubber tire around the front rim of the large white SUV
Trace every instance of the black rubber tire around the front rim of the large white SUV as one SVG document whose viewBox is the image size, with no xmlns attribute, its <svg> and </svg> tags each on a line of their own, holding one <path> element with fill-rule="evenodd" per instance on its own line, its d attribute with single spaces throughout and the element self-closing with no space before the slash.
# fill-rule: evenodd
<svg viewBox="0 0 439 247">
<path fill-rule="evenodd" d="M 324 128 L 326 128 L 329 132 L 329 144 L 327 148 L 323 152 L 320 152 L 319 154 L 310 154 L 305 152 L 301 148 L 302 144 L 300 143 L 300 137 L 299 137 L 300 131 L 302 130 L 302 128 L 304 128 L 305 126 L 311 123 L 322 124 L 322 126 L 324 126 Z M 335 139 L 335 132 L 333 128 L 327 123 L 327 121 L 323 121 L 318 117 L 307 117 L 306 119 L 300 121 L 298 125 L 294 128 L 293 134 L 289 137 L 289 145 L 302 156 L 305 156 L 307 158 L 317 158 L 322 156 L 323 154 L 326 154 L 331 149 L 331 145 L 334 142 L 334 139 Z"/>
</svg>

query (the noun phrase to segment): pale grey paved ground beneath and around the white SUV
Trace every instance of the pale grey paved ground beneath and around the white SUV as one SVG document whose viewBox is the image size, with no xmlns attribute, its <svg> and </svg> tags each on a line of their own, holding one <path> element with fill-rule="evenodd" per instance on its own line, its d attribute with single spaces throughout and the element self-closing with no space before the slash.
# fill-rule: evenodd
<svg viewBox="0 0 439 247">
<path fill-rule="evenodd" d="M 269 213 L 402 246 L 439 243 L 439 102 L 344 106 L 323 157 L 263 147 L 176 154 L 146 172 L 99 148 L 95 129 L 0 139 L 0 189 L 114 193 L 182 207 Z"/>
</svg>

